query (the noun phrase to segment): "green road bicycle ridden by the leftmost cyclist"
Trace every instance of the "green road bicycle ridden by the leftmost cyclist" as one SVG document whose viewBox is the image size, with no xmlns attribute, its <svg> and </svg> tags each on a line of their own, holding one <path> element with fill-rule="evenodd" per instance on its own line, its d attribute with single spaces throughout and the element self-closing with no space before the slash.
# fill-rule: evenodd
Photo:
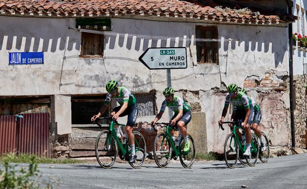
<svg viewBox="0 0 307 189">
<path fill-rule="evenodd" d="M 102 127 L 101 124 L 98 123 L 99 120 L 107 119 L 110 120 L 111 123 L 109 124 L 108 130 L 104 130 L 99 133 L 95 143 L 95 153 L 96 159 L 98 163 L 103 168 L 111 168 L 114 163 L 116 162 L 116 158 L 118 155 L 119 149 L 119 157 L 121 160 L 128 161 L 131 157 L 131 149 L 129 146 L 129 141 L 127 140 L 125 144 L 122 144 L 120 138 L 116 135 L 114 130 L 115 125 L 125 126 L 124 124 L 119 124 L 116 122 L 112 117 L 99 117 L 95 120 L 95 123 Z M 132 132 L 134 135 L 134 143 L 135 143 L 135 153 L 136 153 L 136 160 L 129 164 L 133 168 L 140 168 L 146 158 L 146 143 L 143 135 L 137 131 Z"/>
</svg>

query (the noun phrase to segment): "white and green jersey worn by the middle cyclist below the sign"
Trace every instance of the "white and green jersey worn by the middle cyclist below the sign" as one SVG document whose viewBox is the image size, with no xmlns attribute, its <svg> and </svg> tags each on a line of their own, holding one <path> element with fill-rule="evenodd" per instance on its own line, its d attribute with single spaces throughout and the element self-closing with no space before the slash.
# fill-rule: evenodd
<svg viewBox="0 0 307 189">
<path fill-rule="evenodd" d="M 179 96 L 174 96 L 173 101 L 170 102 L 170 103 L 167 102 L 167 100 L 165 99 L 162 102 L 162 106 L 160 108 L 160 111 L 165 111 L 166 107 L 172 109 L 175 114 L 178 114 L 179 109 L 182 109 L 184 113 L 191 111 L 190 107 Z"/>
</svg>

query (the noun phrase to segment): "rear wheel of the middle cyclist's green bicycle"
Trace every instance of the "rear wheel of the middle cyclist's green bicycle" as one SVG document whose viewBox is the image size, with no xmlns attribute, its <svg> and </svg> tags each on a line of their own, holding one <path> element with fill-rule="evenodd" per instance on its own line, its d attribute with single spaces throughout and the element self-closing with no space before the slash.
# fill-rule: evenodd
<svg viewBox="0 0 307 189">
<path fill-rule="evenodd" d="M 187 134 L 187 139 L 190 142 L 190 150 L 187 153 L 184 153 L 184 137 L 181 138 L 180 141 L 180 155 L 179 159 L 184 168 L 190 168 L 196 157 L 195 153 L 195 143 L 191 135 Z"/>
</svg>

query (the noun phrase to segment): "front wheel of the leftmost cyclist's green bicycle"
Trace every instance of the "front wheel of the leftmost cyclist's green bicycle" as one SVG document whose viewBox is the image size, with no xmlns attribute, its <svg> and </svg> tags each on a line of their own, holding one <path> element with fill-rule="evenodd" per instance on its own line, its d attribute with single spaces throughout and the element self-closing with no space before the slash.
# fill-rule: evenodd
<svg viewBox="0 0 307 189">
<path fill-rule="evenodd" d="M 104 130 L 99 133 L 95 143 L 96 159 L 100 166 L 105 169 L 111 168 L 117 158 L 117 142 L 110 134 L 110 131 Z"/>
</svg>

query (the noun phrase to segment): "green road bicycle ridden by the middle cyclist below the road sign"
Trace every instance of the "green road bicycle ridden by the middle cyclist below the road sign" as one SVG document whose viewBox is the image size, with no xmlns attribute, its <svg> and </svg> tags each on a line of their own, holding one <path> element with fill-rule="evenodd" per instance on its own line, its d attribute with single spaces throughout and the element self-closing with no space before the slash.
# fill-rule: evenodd
<svg viewBox="0 0 307 189">
<path fill-rule="evenodd" d="M 156 164 L 161 168 L 165 168 L 172 158 L 176 160 L 179 157 L 184 168 L 190 168 L 196 156 L 195 143 L 192 136 L 187 134 L 187 138 L 190 141 L 190 150 L 184 152 L 184 138 L 181 137 L 178 145 L 175 145 L 170 134 L 170 130 L 175 129 L 170 126 L 170 123 L 156 123 L 155 125 L 160 125 L 164 128 L 163 132 L 157 134 L 154 138 L 153 156 Z M 157 132 L 155 125 L 152 125 L 152 127 Z"/>
</svg>

